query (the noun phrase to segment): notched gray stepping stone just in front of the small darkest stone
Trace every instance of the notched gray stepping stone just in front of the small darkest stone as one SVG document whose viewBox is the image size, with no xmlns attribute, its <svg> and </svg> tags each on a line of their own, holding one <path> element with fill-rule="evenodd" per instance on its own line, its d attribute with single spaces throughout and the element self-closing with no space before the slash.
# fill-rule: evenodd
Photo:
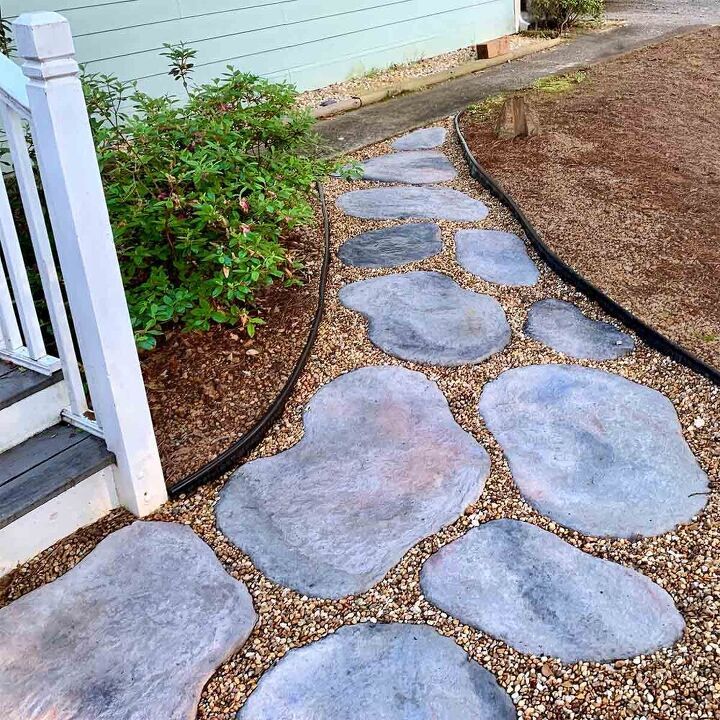
<svg viewBox="0 0 720 720">
<path fill-rule="evenodd" d="M 439 272 L 361 280 L 340 290 L 340 302 L 368 318 L 375 345 L 402 360 L 474 364 L 510 342 L 510 326 L 497 300 L 465 290 Z"/>
</svg>

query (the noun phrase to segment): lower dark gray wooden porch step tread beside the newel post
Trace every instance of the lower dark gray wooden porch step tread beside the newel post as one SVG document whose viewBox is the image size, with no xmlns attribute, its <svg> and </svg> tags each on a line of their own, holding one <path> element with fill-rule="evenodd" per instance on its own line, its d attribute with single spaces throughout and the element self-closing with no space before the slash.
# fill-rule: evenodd
<svg viewBox="0 0 720 720">
<path fill-rule="evenodd" d="M 113 462 L 100 438 L 65 424 L 0 454 L 0 528 Z"/>
</svg>

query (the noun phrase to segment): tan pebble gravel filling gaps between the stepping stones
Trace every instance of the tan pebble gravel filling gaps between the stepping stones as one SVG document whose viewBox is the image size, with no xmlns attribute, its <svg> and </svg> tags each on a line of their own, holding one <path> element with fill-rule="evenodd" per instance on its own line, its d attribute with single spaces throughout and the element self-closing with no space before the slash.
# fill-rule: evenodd
<svg viewBox="0 0 720 720">
<path fill-rule="evenodd" d="M 540 280 L 532 287 L 493 285 L 457 265 L 453 243 L 455 230 L 484 227 L 518 234 L 521 231 L 507 211 L 469 177 L 455 138 L 452 134 L 449 138 L 444 150 L 461 172 L 448 186 L 482 199 L 490 208 L 490 214 L 482 223 L 440 222 L 445 243 L 443 252 L 404 269 L 439 270 L 466 288 L 495 297 L 505 308 L 513 330 L 510 345 L 489 360 L 470 367 L 426 367 L 391 358 L 370 344 L 364 321 L 358 314 L 342 307 L 337 294 L 348 282 L 397 270 L 346 267 L 334 257 L 326 314 L 314 352 L 285 412 L 253 457 L 277 453 L 300 439 L 302 407 L 324 383 L 365 365 L 398 365 L 419 370 L 436 381 L 457 422 L 488 450 L 492 471 L 485 491 L 455 523 L 412 548 L 374 588 L 337 601 L 304 597 L 273 584 L 219 533 L 213 509 L 224 480 L 168 503 L 153 516 L 154 519 L 190 525 L 211 545 L 228 572 L 247 584 L 260 617 L 244 648 L 208 682 L 198 717 L 202 720 L 233 718 L 260 675 L 291 648 L 306 645 L 343 625 L 397 621 L 425 623 L 452 637 L 497 677 L 500 685 L 510 693 L 518 717 L 523 720 L 716 718 L 720 712 L 720 503 L 717 495 L 720 388 L 647 348 L 639 340 L 637 349 L 626 357 L 592 362 L 569 360 L 524 337 L 522 327 L 529 306 L 547 297 L 574 302 L 591 318 L 613 321 L 560 281 L 532 251 L 541 270 Z M 389 147 L 387 142 L 368 148 L 362 158 L 388 152 Z M 356 186 L 369 187 L 370 184 L 358 182 Z M 332 212 L 334 200 L 347 190 L 347 183 L 332 179 L 326 190 Z M 338 211 L 333 212 L 331 219 L 335 251 L 351 235 L 381 225 L 399 224 L 347 218 Z M 559 527 L 522 500 L 500 447 L 477 414 L 477 403 L 484 384 L 502 371 L 530 363 L 550 362 L 572 362 L 610 370 L 655 388 L 672 400 L 685 438 L 710 476 L 712 495 L 706 510 L 697 519 L 660 537 L 597 539 Z M 564 665 L 558 660 L 512 650 L 503 642 L 461 624 L 430 605 L 419 585 L 422 563 L 469 528 L 499 518 L 529 521 L 585 552 L 644 573 L 673 596 L 687 623 L 683 638 L 672 649 L 632 660 Z M 5 583 L 4 591 L 0 591 L 0 603 L 67 571 L 102 536 L 130 520 L 127 513 L 116 512 L 27 563 Z"/>
</svg>

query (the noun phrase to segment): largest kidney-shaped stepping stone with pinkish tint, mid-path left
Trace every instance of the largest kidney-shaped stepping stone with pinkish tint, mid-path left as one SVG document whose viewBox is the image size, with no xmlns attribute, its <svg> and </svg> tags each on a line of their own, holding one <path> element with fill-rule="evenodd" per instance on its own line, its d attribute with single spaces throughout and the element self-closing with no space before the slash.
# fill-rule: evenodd
<svg viewBox="0 0 720 720">
<path fill-rule="evenodd" d="M 221 531 L 270 579 L 305 595 L 364 592 L 480 496 L 485 449 L 424 375 L 366 367 L 321 388 L 294 447 L 241 467 Z"/>
</svg>

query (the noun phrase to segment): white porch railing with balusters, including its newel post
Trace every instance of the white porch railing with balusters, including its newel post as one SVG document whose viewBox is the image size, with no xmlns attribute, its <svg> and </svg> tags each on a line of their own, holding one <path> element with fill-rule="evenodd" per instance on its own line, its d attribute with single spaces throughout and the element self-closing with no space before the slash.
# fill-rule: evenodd
<svg viewBox="0 0 720 720">
<path fill-rule="evenodd" d="M 63 417 L 104 437 L 117 460 L 120 502 L 142 516 L 167 496 L 70 26 L 57 13 L 29 13 L 13 23 L 13 31 L 23 64 L 21 69 L 0 55 L 0 119 L 59 357 L 46 352 L 4 179 L 0 180 L 0 357 L 46 374 L 62 369 L 70 398 Z M 33 175 L 26 126 L 71 320 Z"/>
</svg>

